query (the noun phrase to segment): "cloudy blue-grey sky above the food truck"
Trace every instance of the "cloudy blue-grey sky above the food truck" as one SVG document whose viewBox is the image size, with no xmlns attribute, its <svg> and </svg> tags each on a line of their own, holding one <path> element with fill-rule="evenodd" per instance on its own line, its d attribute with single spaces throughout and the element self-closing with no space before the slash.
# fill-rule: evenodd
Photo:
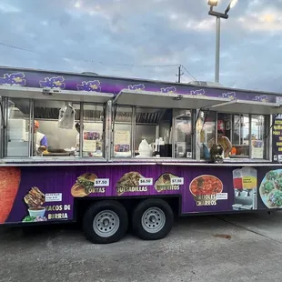
<svg viewBox="0 0 282 282">
<path fill-rule="evenodd" d="M 230 1 L 219 2 L 223 12 Z M 176 81 L 180 64 L 213 81 L 208 8 L 207 0 L 1 0 L 0 65 Z M 221 22 L 221 84 L 282 92 L 281 31 L 282 0 L 238 0 Z"/>
</svg>

